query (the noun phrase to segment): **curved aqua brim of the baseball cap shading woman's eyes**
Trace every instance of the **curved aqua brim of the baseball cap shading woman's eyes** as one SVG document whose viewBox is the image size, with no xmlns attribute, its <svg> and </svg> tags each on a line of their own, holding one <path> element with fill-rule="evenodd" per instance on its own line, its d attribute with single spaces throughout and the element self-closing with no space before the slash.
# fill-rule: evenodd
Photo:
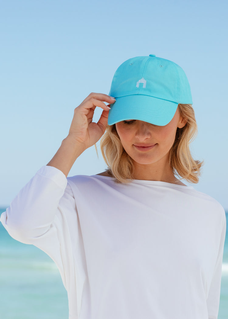
<svg viewBox="0 0 228 319">
<path fill-rule="evenodd" d="M 117 97 L 110 105 L 108 125 L 124 120 L 140 120 L 164 126 L 173 118 L 178 103 L 154 98 L 148 95 Z"/>
</svg>

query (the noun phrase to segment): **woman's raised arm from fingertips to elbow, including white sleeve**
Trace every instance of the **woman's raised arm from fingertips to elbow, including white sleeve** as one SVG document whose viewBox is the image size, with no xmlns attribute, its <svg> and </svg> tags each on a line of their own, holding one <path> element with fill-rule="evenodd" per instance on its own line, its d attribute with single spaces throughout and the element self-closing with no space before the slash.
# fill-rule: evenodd
<svg viewBox="0 0 228 319">
<path fill-rule="evenodd" d="M 109 108 L 103 103 L 114 103 L 110 96 L 91 93 L 74 110 L 68 136 L 46 167 L 25 185 L 1 216 L 9 234 L 22 242 L 31 241 L 50 231 L 64 195 L 68 175 L 74 161 L 103 135 L 108 122 Z M 103 108 L 97 123 L 92 122 L 96 107 Z"/>
</svg>

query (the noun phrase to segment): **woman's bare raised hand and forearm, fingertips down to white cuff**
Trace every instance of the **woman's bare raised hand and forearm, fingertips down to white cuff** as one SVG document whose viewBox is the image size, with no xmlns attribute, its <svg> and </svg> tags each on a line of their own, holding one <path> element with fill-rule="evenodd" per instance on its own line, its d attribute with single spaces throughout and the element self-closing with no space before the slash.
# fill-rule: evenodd
<svg viewBox="0 0 228 319">
<path fill-rule="evenodd" d="M 108 106 L 104 102 L 109 103 Z M 73 163 L 88 147 L 94 145 L 105 132 L 108 123 L 109 106 L 115 99 L 102 93 L 90 93 L 74 110 L 68 136 L 47 166 L 53 166 L 68 175 Z M 102 108 L 102 114 L 97 123 L 93 121 L 96 107 Z"/>
</svg>

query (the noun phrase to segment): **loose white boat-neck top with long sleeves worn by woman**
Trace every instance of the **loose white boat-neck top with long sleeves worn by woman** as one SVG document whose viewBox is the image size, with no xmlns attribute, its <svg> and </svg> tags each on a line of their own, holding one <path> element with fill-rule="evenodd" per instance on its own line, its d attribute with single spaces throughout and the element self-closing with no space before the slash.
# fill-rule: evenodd
<svg viewBox="0 0 228 319">
<path fill-rule="evenodd" d="M 225 212 L 191 186 L 44 166 L 0 220 L 55 261 L 70 319 L 217 319 Z"/>
</svg>

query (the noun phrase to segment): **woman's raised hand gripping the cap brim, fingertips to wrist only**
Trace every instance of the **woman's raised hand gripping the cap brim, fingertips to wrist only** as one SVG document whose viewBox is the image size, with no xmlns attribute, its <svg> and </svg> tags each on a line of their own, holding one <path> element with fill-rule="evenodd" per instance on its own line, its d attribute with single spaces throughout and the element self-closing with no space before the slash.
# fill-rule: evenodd
<svg viewBox="0 0 228 319">
<path fill-rule="evenodd" d="M 69 130 L 68 137 L 76 145 L 86 150 L 94 145 L 105 132 L 108 123 L 109 105 L 105 103 L 115 102 L 114 98 L 102 93 L 90 93 L 87 98 L 74 110 L 74 116 Z M 99 121 L 93 121 L 96 107 L 102 108 L 103 112 Z"/>
</svg>

